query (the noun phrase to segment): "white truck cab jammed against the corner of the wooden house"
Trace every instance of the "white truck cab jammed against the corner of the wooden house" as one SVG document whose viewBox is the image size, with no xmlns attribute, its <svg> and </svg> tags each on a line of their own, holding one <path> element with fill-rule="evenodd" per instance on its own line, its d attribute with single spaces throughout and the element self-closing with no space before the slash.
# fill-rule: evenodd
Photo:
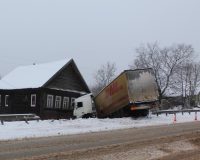
<svg viewBox="0 0 200 160">
<path fill-rule="evenodd" d="M 75 99 L 73 114 L 76 118 L 89 118 L 96 115 L 92 93 Z"/>
</svg>

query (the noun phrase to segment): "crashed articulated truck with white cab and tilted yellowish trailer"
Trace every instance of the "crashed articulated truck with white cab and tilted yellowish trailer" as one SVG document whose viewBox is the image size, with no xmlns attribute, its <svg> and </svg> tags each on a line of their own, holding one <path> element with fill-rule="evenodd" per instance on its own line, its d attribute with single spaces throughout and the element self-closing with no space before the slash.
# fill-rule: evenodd
<svg viewBox="0 0 200 160">
<path fill-rule="evenodd" d="M 125 70 L 97 96 L 87 94 L 75 100 L 74 116 L 87 118 L 147 116 L 158 107 L 158 87 L 153 70 Z"/>
</svg>

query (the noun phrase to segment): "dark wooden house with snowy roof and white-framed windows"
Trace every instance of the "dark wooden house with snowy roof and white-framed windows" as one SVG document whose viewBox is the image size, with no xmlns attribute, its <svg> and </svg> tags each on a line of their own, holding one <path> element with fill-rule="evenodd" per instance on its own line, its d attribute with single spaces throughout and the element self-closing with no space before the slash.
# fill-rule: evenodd
<svg viewBox="0 0 200 160">
<path fill-rule="evenodd" d="M 22 66 L 0 80 L 0 114 L 70 118 L 74 99 L 90 93 L 73 59 Z"/>
</svg>

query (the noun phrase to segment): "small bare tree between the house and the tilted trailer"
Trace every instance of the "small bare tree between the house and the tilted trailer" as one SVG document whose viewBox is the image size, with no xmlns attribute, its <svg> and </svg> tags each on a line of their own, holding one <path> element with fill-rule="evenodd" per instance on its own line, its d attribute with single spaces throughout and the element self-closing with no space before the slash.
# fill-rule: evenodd
<svg viewBox="0 0 200 160">
<path fill-rule="evenodd" d="M 117 68 L 115 63 L 107 62 L 102 65 L 94 74 L 95 85 L 91 88 L 94 95 L 99 93 L 114 78 Z"/>
</svg>

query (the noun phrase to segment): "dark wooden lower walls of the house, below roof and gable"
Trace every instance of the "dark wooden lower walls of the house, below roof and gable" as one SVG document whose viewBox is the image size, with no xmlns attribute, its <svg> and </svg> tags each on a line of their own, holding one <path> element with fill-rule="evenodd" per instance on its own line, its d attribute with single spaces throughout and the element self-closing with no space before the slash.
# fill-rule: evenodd
<svg viewBox="0 0 200 160">
<path fill-rule="evenodd" d="M 31 95 L 36 94 L 36 106 L 31 106 Z M 78 98 L 80 93 L 61 91 L 49 88 L 39 89 L 19 89 L 0 91 L 1 95 L 1 114 L 23 114 L 35 113 L 42 119 L 72 118 L 73 107 L 72 98 Z M 5 95 L 9 95 L 9 105 L 5 106 Z M 47 95 L 53 95 L 53 108 L 47 108 Z M 55 108 L 55 97 L 61 96 L 61 108 Z M 63 109 L 63 97 L 69 98 L 69 107 Z"/>
</svg>

